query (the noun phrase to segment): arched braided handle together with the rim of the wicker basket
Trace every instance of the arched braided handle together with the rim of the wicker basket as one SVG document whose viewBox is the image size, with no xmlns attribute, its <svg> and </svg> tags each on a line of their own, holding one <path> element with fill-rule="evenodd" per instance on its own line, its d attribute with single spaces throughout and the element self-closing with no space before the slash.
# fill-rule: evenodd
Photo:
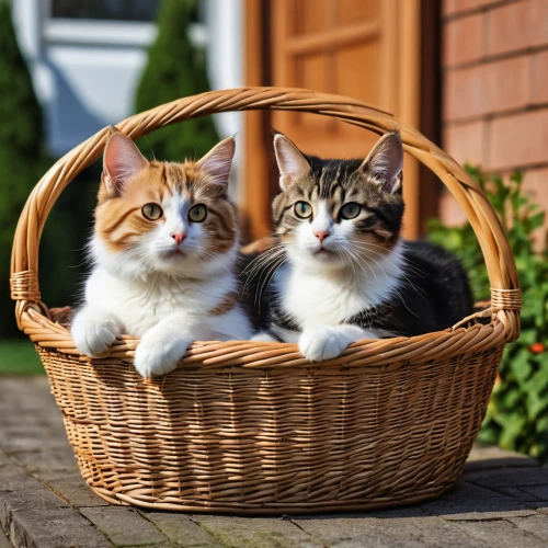
<svg viewBox="0 0 548 548">
<path fill-rule="evenodd" d="M 240 88 L 202 93 L 159 105 L 116 124 L 136 139 L 159 127 L 192 117 L 228 111 L 293 110 L 328 115 L 361 126 L 377 134 L 400 130 L 403 148 L 430 168 L 448 187 L 465 210 L 488 267 L 491 282 L 491 315 L 489 324 L 425 333 L 412 338 L 359 341 L 339 358 L 324 362 L 328 366 L 349 364 L 383 365 L 384 359 L 434 359 L 450 354 L 480 351 L 517 339 L 520 334 L 521 292 L 515 261 L 503 227 L 479 185 L 448 155 L 422 136 L 416 129 L 392 115 L 361 101 L 340 95 L 288 88 Z M 38 247 L 44 224 L 62 190 L 102 153 L 110 129 L 75 147 L 59 159 L 36 184 L 21 214 L 14 236 L 11 263 L 12 298 L 16 300 L 18 324 L 31 340 L 45 349 L 79 354 L 69 331 L 52 321 L 48 308 L 42 302 L 38 286 Z M 107 356 L 133 357 L 138 339 L 122 336 Z M 243 351 L 242 344 L 251 346 Z M 236 350 L 235 350 L 236 349 Z M 231 351 L 231 352 L 230 352 Z M 212 354 L 213 353 L 213 354 Z M 214 355 L 214 357 L 210 357 Z M 298 352 L 296 344 L 258 342 L 204 342 L 191 346 L 183 365 L 209 363 L 216 357 L 225 365 L 254 367 L 284 364 L 308 366 L 310 362 Z M 233 357 L 230 357 L 232 356 Z M 89 359 L 89 358 L 88 358 Z M 387 362 L 388 363 L 388 362 Z M 318 366 L 318 364 L 312 364 Z M 251 365 L 246 365 L 250 367 Z"/>
</svg>

